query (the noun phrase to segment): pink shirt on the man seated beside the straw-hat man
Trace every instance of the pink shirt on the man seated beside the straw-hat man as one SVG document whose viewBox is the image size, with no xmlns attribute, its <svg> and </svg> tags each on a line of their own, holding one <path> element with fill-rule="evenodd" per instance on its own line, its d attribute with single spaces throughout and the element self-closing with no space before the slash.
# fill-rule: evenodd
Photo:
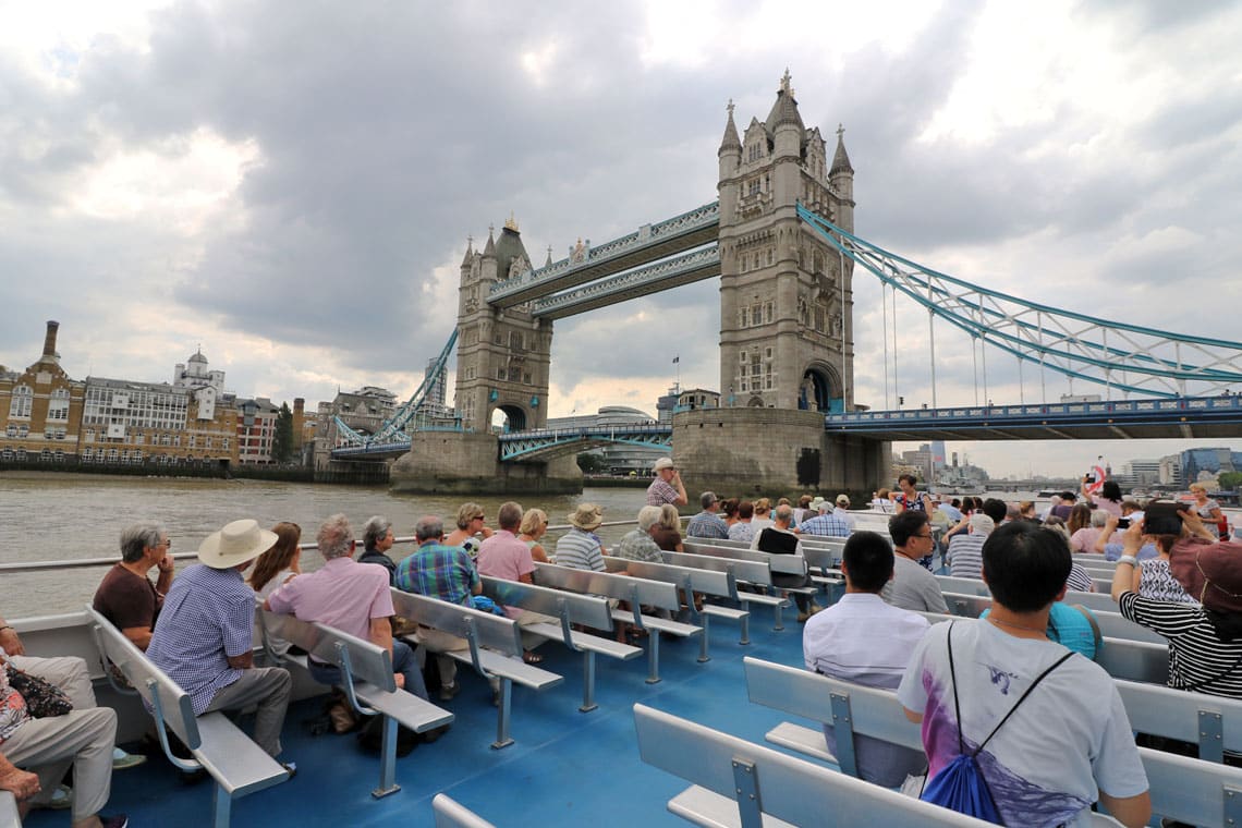
<svg viewBox="0 0 1242 828">
<path fill-rule="evenodd" d="M 371 618 L 392 614 L 388 570 L 334 557 L 318 572 L 299 575 L 267 598 L 273 612 L 318 621 L 370 641 Z"/>
</svg>

